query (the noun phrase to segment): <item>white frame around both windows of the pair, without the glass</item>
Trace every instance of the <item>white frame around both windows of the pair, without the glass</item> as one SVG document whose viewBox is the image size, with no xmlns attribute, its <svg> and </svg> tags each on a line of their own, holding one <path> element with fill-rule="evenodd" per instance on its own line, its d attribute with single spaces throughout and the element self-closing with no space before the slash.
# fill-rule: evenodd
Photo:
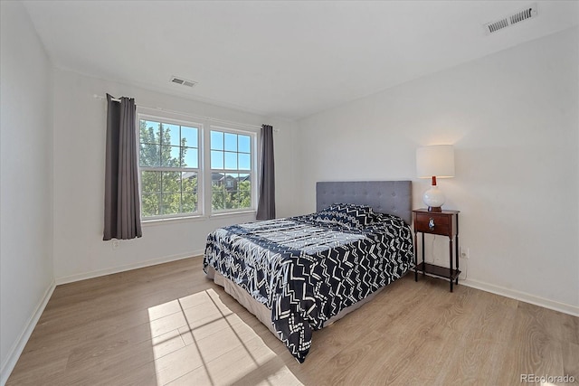
<svg viewBox="0 0 579 386">
<path fill-rule="evenodd" d="M 260 165 L 261 154 L 258 151 L 258 144 L 261 138 L 261 129 L 259 127 L 250 127 L 249 125 L 235 124 L 233 122 L 227 122 L 219 125 L 215 125 L 214 121 L 218 119 L 213 118 L 199 118 L 185 113 L 177 113 L 167 110 L 159 110 L 155 108 L 137 108 L 137 122 L 135 129 L 137 130 L 138 141 L 138 154 L 140 159 L 140 120 L 152 120 L 166 122 L 168 124 L 180 125 L 185 127 L 197 127 L 198 128 L 198 168 L 186 168 L 187 171 L 197 172 L 197 212 L 189 213 L 178 213 L 178 214 L 166 214 L 151 217 L 142 217 L 141 221 L 143 223 L 153 223 L 157 221 L 188 221 L 188 220 L 201 220 L 211 217 L 223 217 L 229 215 L 241 215 L 246 213 L 257 212 L 257 195 L 258 195 L 258 182 L 260 170 L 258 165 Z M 224 122 L 224 121 L 223 121 Z M 212 169 L 211 169 L 211 131 L 223 131 L 225 133 L 238 134 L 243 136 L 251 137 L 251 170 L 220 170 L 223 173 L 238 173 L 238 174 L 250 174 L 251 175 L 251 194 L 252 194 L 252 207 L 251 208 L 237 208 L 237 209 L 224 209 L 219 211 L 213 211 L 212 208 Z M 140 161 L 138 162 L 138 192 L 139 199 L 142 200 L 142 185 L 140 182 L 141 170 L 159 170 L 159 168 L 141 167 Z M 166 168 L 168 171 L 176 171 L 176 168 Z M 181 170 L 181 168 L 179 168 Z M 141 202 L 142 204 L 142 202 Z M 142 205 L 141 205 L 141 216 L 142 216 Z"/>
</svg>

